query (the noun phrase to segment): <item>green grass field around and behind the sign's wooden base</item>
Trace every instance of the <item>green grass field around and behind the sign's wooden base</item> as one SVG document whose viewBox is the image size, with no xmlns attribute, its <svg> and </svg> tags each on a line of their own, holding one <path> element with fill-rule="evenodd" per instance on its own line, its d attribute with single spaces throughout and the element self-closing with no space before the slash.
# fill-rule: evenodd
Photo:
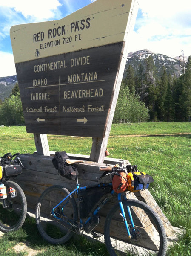
<svg viewBox="0 0 191 256">
<path fill-rule="evenodd" d="M 151 194 L 171 224 L 175 227 L 184 227 L 186 230 L 179 242 L 169 248 L 167 256 L 191 255 L 191 134 L 189 133 L 191 133 L 190 122 L 114 124 L 108 140 L 110 157 L 128 159 L 131 164 L 137 164 L 140 171 L 154 177 L 154 183 L 149 188 Z M 22 154 L 36 151 L 33 134 L 27 134 L 24 126 L 0 127 L 0 135 L 0 156 L 6 152 L 19 151 Z M 51 151 L 90 154 L 92 139 L 48 135 L 48 143 Z M 80 242 L 70 241 L 63 246 L 47 244 L 41 239 L 35 222 L 31 219 L 27 219 L 17 232 L 5 234 L 0 241 L 0 255 L 7 256 L 27 255 L 15 253 L 11 249 L 20 241 L 27 241 L 36 249 L 46 250 L 38 253 L 38 256 L 107 255 L 104 246 L 95 247 L 83 239 L 80 239 Z"/>
</svg>

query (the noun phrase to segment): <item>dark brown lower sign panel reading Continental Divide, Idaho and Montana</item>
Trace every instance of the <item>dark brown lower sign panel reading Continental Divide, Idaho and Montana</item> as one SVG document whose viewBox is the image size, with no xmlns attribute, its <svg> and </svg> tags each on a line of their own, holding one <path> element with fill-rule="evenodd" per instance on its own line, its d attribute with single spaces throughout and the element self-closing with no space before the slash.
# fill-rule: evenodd
<svg viewBox="0 0 191 256">
<path fill-rule="evenodd" d="M 27 132 L 102 137 L 122 46 L 16 64 Z"/>
</svg>

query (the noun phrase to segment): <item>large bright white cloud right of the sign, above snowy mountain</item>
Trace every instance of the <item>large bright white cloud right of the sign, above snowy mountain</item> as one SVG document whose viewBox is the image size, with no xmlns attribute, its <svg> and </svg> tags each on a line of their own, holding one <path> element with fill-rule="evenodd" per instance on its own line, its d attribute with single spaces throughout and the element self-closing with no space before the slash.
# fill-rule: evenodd
<svg viewBox="0 0 191 256">
<path fill-rule="evenodd" d="M 140 0 L 142 16 L 130 40 L 131 51 L 149 49 L 170 57 L 191 55 L 190 0 Z"/>
</svg>

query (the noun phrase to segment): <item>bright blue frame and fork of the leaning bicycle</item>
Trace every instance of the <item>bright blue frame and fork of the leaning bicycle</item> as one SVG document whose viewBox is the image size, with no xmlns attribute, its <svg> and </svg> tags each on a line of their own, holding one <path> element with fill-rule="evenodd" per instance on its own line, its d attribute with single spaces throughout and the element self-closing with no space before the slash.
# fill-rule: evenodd
<svg viewBox="0 0 191 256">
<path fill-rule="evenodd" d="M 102 184 L 101 186 L 105 186 L 105 184 Z M 109 183 L 109 186 L 112 186 L 112 183 Z M 58 203 L 54 208 L 52 208 L 52 215 L 54 216 L 54 218 L 56 218 L 56 219 L 58 219 L 58 220 L 60 220 L 60 221 L 66 221 L 66 222 L 68 222 L 69 224 L 71 224 L 72 227 L 76 228 L 77 225 L 75 224 L 75 222 L 74 222 L 73 220 L 71 220 L 71 219 L 63 220 L 63 219 L 57 217 L 57 216 L 55 215 L 55 209 L 56 209 L 59 205 L 61 205 L 64 201 L 66 201 L 67 198 L 69 198 L 70 196 L 74 196 L 74 195 L 78 194 L 79 191 L 81 191 L 81 190 L 86 190 L 87 188 L 90 188 L 90 187 L 92 187 L 92 188 L 100 187 L 100 184 L 98 184 L 98 185 L 93 185 L 93 186 L 83 186 L 83 187 L 80 187 L 79 184 L 77 183 L 76 189 L 74 189 L 70 194 L 68 194 L 65 198 L 63 198 L 63 200 L 60 201 L 60 203 Z M 111 191 L 111 195 L 113 195 L 113 194 L 114 194 L 114 190 Z M 126 216 L 125 216 L 125 211 L 124 211 L 123 203 L 122 203 L 122 201 L 121 201 L 121 196 L 122 196 L 122 194 L 119 193 L 119 194 L 118 194 L 118 202 L 119 202 L 120 209 L 121 209 L 121 215 L 122 215 L 123 221 L 124 221 L 124 223 L 125 223 L 125 227 L 126 227 L 126 230 L 127 230 L 128 237 L 131 239 L 132 236 L 131 236 L 131 233 L 130 233 L 130 230 L 129 230 L 129 227 L 128 227 L 128 222 L 127 222 L 127 219 L 126 219 Z M 123 199 L 124 199 L 124 200 L 127 200 L 127 199 L 125 198 L 125 195 L 124 195 L 124 194 L 123 194 Z M 108 200 L 109 200 L 109 198 L 107 198 L 107 197 L 103 200 L 103 202 L 102 202 L 103 206 L 107 203 Z M 61 207 L 62 212 L 63 212 L 63 208 L 65 207 L 66 204 L 67 204 L 67 202 L 62 205 L 62 207 Z M 92 215 L 97 215 L 97 213 L 100 211 L 101 208 L 102 208 L 102 207 L 98 206 L 98 207 L 94 210 L 94 212 L 93 212 Z M 127 206 L 127 211 L 128 211 L 129 219 L 130 219 L 130 222 L 131 222 L 130 224 L 131 224 L 132 230 L 135 231 L 134 221 L 133 221 L 133 218 L 132 218 L 132 215 L 131 215 L 131 210 L 130 210 L 130 207 L 129 207 L 129 206 Z M 64 215 L 64 213 L 63 213 L 63 215 Z M 82 219 L 80 218 L 80 223 L 83 224 L 83 225 L 86 225 L 86 224 L 91 220 L 91 218 L 92 218 L 92 217 L 88 217 L 88 219 L 87 219 L 84 223 L 83 223 Z"/>
</svg>

